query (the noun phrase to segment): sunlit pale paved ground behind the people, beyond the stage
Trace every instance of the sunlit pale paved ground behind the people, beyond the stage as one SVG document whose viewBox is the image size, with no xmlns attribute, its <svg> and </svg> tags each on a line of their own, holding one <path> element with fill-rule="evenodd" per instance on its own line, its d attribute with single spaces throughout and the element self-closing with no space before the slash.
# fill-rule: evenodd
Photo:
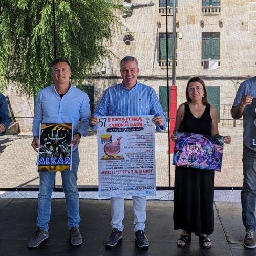
<svg viewBox="0 0 256 256">
<path fill-rule="evenodd" d="M 221 135 L 231 135 L 232 143 L 225 145 L 222 171 L 215 173 L 215 186 L 241 187 L 242 185 L 242 127 L 222 127 Z M 0 137 L 0 188 L 38 187 L 36 153 L 31 147 L 32 135 Z M 168 186 L 168 133 L 156 133 L 157 186 Z M 80 144 L 79 187 L 96 188 L 98 185 L 97 136 L 90 132 Z M 171 155 L 172 158 L 172 155 Z M 171 185 L 174 186 L 174 166 L 171 166 Z M 56 185 L 61 186 L 60 175 Z"/>
</svg>

